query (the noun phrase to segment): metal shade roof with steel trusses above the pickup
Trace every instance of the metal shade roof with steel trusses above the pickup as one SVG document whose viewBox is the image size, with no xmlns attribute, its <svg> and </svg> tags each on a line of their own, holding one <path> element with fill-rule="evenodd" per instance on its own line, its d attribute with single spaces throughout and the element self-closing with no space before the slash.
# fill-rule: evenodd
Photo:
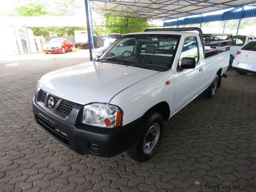
<svg viewBox="0 0 256 192">
<path fill-rule="evenodd" d="M 127 17 L 170 20 L 255 3 L 255 0 L 89 0 L 93 11 Z"/>
</svg>

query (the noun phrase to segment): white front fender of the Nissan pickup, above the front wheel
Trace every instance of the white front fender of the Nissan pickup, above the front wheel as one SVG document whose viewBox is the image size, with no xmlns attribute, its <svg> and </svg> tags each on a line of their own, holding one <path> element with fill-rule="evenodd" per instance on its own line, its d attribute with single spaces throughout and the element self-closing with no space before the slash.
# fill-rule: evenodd
<svg viewBox="0 0 256 192">
<path fill-rule="evenodd" d="M 166 85 L 166 81 L 171 83 Z M 123 110 L 123 125 L 125 125 L 140 118 L 148 109 L 160 102 L 167 102 L 172 109 L 174 94 L 174 75 L 171 69 L 159 72 L 124 89 L 109 103 L 117 105 Z"/>
</svg>

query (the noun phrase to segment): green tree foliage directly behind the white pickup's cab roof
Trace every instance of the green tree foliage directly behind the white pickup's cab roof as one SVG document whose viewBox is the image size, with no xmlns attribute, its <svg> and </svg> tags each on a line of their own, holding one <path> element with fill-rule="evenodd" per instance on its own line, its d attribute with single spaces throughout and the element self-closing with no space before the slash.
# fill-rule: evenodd
<svg viewBox="0 0 256 192">
<path fill-rule="evenodd" d="M 131 33 L 140 32 L 149 27 L 128 27 L 128 26 L 149 26 L 147 19 L 139 19 L 132 17 L 124 17 L 120 15 L 107 15 L 103 16 L 103 25 L 106 26 L 105 35 L 108 33 Z M 153 28 L 155 26 L 150 25 Z"/>
</svg>

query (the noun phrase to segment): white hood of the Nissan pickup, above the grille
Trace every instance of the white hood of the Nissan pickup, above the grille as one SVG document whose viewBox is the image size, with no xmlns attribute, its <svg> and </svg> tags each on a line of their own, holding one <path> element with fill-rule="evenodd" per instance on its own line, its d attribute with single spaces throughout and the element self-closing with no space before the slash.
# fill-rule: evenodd
<svg viewBox="0 0 256 192">
<path fill-rule="evenodd" d="M 108 103 L 125 88 L 158 71 L 113 63 L 91 61 L 44 75 L 40 87 L 78 104 Z"/>
</svg>

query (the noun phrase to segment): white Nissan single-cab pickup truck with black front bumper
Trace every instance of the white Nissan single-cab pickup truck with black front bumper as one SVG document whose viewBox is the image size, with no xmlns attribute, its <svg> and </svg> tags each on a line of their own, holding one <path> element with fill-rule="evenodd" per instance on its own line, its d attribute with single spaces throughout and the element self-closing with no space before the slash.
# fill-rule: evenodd
<svg viewBox="0 0 256 192">
<path fill-rule="evenodd" d="M 144 162 L 157 149 L 164 121 L 200 93 L 215 95 L 229 46 L 205 51 L 199 28 L 126 34 L 98 60 L 44 75 L 33 100 L 36 122 L 80 154 L 127 150 Z"/>
</svg>

